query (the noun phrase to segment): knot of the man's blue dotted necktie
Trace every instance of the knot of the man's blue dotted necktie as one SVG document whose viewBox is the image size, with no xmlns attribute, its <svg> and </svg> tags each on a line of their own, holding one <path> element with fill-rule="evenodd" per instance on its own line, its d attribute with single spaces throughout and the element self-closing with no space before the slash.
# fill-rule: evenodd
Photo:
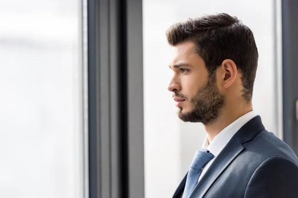
<svg viewBox="0 0 298 198">
<path fill-rule="evenodd" d="M 191 168 L 202 169 L 214 157 L 207 149 L 197 150 L 191 163 Z"/>
</svg>

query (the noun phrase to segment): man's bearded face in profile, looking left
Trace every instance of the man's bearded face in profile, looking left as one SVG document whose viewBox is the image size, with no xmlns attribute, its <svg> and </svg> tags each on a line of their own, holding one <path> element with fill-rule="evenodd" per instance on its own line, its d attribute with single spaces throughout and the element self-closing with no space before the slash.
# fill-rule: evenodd
<svg viewBox="0 0 298 198">
<path fill-rule="evenodd" d="M 225 104 L 224 96 L 217 87 L 216 72 L 208 75 L 194 43 L 183 42 L 174 47 L 170 68 L 174 74 L 168 90 L 173 92 L 179 118 L 204 125 L 216 121 Z"/>
</svg>

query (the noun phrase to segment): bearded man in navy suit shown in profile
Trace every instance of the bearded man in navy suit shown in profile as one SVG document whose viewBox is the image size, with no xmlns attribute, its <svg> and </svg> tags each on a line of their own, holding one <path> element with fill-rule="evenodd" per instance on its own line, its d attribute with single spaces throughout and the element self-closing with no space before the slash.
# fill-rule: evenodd
<svg viewBox="0 0 298 198">
<path fill-rule="evenodd" d="M 166 36 L 178 116 L 207 131 L 173 198 L 298 198 L 296 154 L 252 108 L 258 50 L 251 30 L 221 13 L 177 23 Z"/>
</svg>

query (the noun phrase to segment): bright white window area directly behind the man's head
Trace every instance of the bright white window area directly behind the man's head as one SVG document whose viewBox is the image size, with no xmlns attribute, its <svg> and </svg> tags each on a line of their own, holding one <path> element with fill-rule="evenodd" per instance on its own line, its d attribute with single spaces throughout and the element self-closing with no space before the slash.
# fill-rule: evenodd
<svg viewBox="0 0 298 198">
<path fill-rule="evenodd" d="M 259 51 L 253 107 L 267 130 L 277 134 L 274 2 L 143 0 L 146 198 L 173 195 L 206 136 L 201 124 L 183 123 L 177 118 L 167 91 L 172 73 L 168 68 L 171 48 L 166 42 L 166 29 L 202 14 L 226 12 L 242 20 L 253 31 Z"/>
</svg>

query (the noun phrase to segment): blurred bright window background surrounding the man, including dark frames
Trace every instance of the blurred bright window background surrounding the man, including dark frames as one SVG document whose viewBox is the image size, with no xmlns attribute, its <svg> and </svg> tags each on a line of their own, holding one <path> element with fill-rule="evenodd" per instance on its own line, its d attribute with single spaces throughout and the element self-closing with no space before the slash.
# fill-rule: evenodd
<svg viewBox="0 0 298 198">
<path fill-rule="evenodd" d="M 298 153 L 297 8 L 0 0 L 0 198 L 171 197 L 206 132 L 176 114 L 165 31 L 203 14 L 225 12 L 252 30 L 254 110 Z"/>
</svg>

